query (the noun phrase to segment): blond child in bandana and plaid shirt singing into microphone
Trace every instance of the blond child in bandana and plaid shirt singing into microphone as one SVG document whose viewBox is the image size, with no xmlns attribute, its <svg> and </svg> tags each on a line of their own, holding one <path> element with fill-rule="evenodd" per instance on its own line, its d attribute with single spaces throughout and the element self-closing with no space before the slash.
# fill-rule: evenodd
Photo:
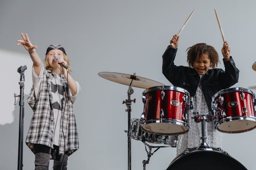
<svg viewBox="0 0 256 170">
<path fill-rule="evenodd" d="M 33 62 L 33 87 L 28 103 L 34 114 L 26 144 L 35 154 L 35 170 L 48 170 L 54 159 L 54 170 L 67 169 L 68 156 L 79 148 L 73 103 L 81 87 L 69 74 L 65 49 L 51 44 L 45 54 L 45 68 L 28 35 L 17 40 L 28 51 Z M 67 70 L 61 65 L 64 63 Z"/>
</svg>

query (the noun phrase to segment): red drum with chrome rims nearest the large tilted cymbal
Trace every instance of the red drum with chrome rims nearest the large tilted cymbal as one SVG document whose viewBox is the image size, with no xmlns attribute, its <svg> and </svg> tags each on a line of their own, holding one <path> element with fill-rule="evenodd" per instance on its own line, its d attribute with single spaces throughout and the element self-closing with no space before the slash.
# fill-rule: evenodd
<svg viewBox="0 0 256 170">
<path fill-rule="evenodd" d="M 154 86 L 143 91 L 142 129 L 160 135 L 188 131 L 189 92 L 180 87 Z"/>
</svg>

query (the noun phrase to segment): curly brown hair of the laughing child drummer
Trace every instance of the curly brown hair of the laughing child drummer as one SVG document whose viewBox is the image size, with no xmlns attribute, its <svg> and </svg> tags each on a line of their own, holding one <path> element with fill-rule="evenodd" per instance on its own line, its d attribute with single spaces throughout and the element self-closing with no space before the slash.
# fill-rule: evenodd
<svg viewBox="0 0 256 170">
<path fill-rule="evenodd" d="M 196 58 L 200 58 L 202 54 L 208 54 L 208 57 L 212 63 L 211 67 L 216 68 L 219 61 L 219 55 L 214 47 L 205 43 L 198 43 L 192 47 L 187 48 L 187 62 L 189 67 L 194 67 L 194 61 Z"/>
</svg>

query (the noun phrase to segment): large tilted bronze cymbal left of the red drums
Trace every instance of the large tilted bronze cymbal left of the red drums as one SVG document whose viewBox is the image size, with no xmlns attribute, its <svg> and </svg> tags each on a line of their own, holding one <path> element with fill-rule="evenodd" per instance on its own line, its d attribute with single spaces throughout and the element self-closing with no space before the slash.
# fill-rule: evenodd
<svg viewBox="0 0 256 170">
<path fill-rule="evenodd" d="M 98 75 L 112 82 L 116 82 L 116 83 L 120 83 L 128 86 L 130 85 L 132 80 L 131 77 L 133 76 L 131 74 L 116 73 L 116 72 L 98 72 Z M 149 88 L 153 86 L 165 86 L 164 84 L 151 79 L 139 77 L 137 75 L 135 75 L 135 77 L 136 77 L 135 80 L 132 81 L 132 87 Z"/>
</svg>

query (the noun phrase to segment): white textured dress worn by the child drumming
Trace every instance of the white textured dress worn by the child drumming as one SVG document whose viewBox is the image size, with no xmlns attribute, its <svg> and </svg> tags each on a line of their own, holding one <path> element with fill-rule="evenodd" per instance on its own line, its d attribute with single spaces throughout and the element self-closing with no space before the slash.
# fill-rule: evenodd
<svg viewBox="0 0 256 170">
<path fill-rule="evenodd" d="M 200 75 L 200 79 L 201 77 L 202 75 Z M 200 83 L 194 96 L 193 107 L 193 112 L 198 112 L 200 115 L 204 115 L 209 112 Z M 190 115 L 188 115 L 188 122 L 188 132 L 183 135 L 179 135 L 179 140 L 177 142 L 177 155 L 182 153 L 186 148 L 198 147 L 202 141 L 200 139 L 202 136 L 201 122 L 195 122 L 194 119 L 191 119 Z M 222 147 L 222 133 L 215 129 L 213 121 L 205 122 L 205 134 L 208 146 L 214 148 Z"/>
</svg>

